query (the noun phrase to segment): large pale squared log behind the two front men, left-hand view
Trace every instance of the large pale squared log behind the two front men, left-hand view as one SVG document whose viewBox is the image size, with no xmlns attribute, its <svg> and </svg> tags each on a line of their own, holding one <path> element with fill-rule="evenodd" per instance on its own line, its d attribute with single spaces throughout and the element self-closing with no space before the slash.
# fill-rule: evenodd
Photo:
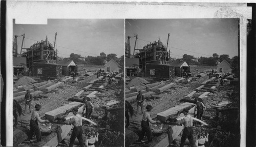
<svg viewBox="0 0 256 147">
<path fill-rule="evenodd" d="M 61 116 L 68 111 L 71 111 L 73 108 L 79 108 L 81 105 L 83 105 L 83 103 L 72 102 L 52 111 L 46 112 L 45 116 L 47 120 L 54 121 L 55 119 L 57 119 L 58 116 Z"/>
</svg>

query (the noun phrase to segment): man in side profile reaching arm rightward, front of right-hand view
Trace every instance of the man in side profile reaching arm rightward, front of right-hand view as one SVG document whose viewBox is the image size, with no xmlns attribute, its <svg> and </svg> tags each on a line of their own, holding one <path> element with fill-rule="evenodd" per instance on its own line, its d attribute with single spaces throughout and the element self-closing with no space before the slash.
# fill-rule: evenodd
<svg viewBox="0 0 256 147">
<path fill-rule="evenodd" d="M 153 121 L 150 116 L 150 111 L 153 109 L 151 105 L 146 106 L 146 111 L 143 113 L 142 121 L 141 121 L 141 134 L 139 136 L 139 140 L 143 140 L 144 135 L 146 133 L 148 142 L 152 141 L 152 131 L 150 129 L 150 123 L 161 123 L 160 121 Z"/>
</svg>

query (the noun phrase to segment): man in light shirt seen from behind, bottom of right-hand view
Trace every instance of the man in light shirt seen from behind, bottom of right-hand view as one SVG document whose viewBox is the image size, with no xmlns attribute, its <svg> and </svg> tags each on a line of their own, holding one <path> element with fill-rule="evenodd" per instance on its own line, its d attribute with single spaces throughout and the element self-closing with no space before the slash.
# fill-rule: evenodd
<svg viewBox="0 0 256 147">
<path fill-rule="evenodd" d="M 185 140 L 188 138 L 189 143 L 192 147 L 194 147 L 194 139 L 193 139 L 193 117 L 188 115 L 188 109 L 183 110 L 183 117 L 182 120 L 177 122 L 177 125 L 184 125 L 184 130 L 181 136 L 180 147 L 183 147 L 185 144 Z"/>
</svg>

